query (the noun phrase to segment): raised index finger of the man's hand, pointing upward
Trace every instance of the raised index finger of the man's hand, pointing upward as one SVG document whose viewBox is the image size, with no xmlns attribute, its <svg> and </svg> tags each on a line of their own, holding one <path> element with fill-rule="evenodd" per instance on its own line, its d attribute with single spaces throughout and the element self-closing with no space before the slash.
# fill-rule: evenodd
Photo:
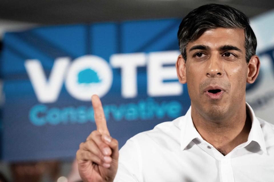
<svg viewBox="0 0 274 182">
<path fill-rule="evenodd" d="M 97 131 L 99 131 L 102 135 L 105 134 L 110 136 L 108 127 L 106 126 L 106 118 L 104 115 L 104 110 L 100 98 L 97 95 L 93 95 L 91 97 L 91 101 L 94 110 L 94 119 Z"/>
</svg>

